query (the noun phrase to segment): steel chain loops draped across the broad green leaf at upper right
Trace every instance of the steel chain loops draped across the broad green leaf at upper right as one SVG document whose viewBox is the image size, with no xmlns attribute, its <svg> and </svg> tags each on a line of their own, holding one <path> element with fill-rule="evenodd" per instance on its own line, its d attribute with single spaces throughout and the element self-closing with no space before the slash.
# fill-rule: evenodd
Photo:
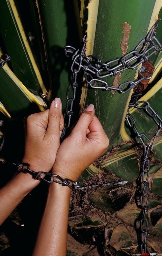
<svg viewBox="0 0 162 256">
<path fill-rule="evenodd" d="M 138 65 L 148 61 L 148 58 L 155 52 L 162 50 L 162 44 L 155 37 L 156 28 L 159 26 L 159 21 L 152 26 L 148 32 L 146 38 L 142 39 L 133 51 L 125 54 L 120 58 L 102 63 L 101 60 L 93 55 L 85 55 L 85 37 L 83 38 L 83 46 L 81 49 L 76 50 L 72 46 L 65 46 L 65 55 L 72 57 L 72 71 L 73 66 L 78 67 L 77 73 L 82 69 L 84 72 L 85 81 L 93 89 L 103 89 L 108 91 L 113 89 L 121 93 L 127 93 L 131 89 L 135 89 L 137 85 L 144 79 L 149 80 L 152 77 L 152 72 L 145 69 L 143 66 L 139 68 L 138 73 L 141 75 L 141 79 L 134 81 L 127 81 L 119 85 L 118 88 L 109 86 L 103 78 L 108 76 L 116 76 L 118 73 L 128 69 L 134 69 Z M 80 53 L 79 53 L 80 52 Z M 142 72 L 147 72 L 148 76 L 143 76 Z M 96 86 L 96 82 L 101 84 Z"/>
</svg>

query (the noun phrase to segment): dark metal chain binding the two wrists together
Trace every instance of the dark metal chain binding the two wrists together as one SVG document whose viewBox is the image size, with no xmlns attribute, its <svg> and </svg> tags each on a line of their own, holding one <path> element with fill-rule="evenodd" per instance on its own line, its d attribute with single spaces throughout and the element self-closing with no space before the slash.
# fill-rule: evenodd
<svg viewBox="0 0 162 256">
<path fill-rule="evenodd" d="M 17 165 L 16 168 L 19 172 L 21 171 L 23 173 L 30 173 L 36 180 L 43 180 L 49 184 L 51 184 L 52 182 L 56 182 L 61 184 L 62 186 L 68 186 L 72 190 L 75 190 L 76 188 L 80 187 L 77 182 L 74 182 L 69 179 L 63 179 L 58 174 L 52 174 L 50 172 L 45 172 L 45 171 L 36 172 L 36 171 L 30 170 L 30 165 L 28 163 L 18 163 L 14 165 Z M 45 175 L 45 177 L 42 177 L 43 175 Z M 57 178 L 57 180 L 55 178 Z"/>
</svg>

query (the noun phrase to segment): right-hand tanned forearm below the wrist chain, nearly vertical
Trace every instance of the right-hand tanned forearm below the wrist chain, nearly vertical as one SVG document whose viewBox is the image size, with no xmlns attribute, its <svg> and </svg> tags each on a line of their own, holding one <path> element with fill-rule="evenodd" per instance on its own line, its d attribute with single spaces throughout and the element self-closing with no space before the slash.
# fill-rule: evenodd
<svg viewBox="0 0 162 256">
<path fill-rule="evenodd" d="M 69 187 L 50 184 L 33 256 L 66 255 L 70 195 Z"/>
</svg>

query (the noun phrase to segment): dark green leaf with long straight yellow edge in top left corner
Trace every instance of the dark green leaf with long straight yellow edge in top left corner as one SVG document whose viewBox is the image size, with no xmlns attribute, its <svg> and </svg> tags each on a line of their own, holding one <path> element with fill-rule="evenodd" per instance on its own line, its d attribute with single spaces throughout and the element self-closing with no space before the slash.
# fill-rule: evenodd
<svg viewBox="0 0 162 256">
<path fill-rule="evenodd" d="M 11 67 L 15 75 L 27 88 L 46 94 L 46 88 L 15 2 L 13 0 L 3 1 L 1 11 L 0 34 L 7 54 L 11 56 Z"/>
</svg>

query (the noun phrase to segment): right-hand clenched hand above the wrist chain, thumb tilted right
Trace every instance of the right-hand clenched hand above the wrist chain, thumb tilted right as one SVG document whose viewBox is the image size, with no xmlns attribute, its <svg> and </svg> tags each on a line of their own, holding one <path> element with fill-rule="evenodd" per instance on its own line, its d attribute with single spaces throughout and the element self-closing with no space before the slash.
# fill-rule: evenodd
<svg viewBox="0 0 162 256">
<path fill-rule="evenodd" d="M 108 145 L 109 139 L 90 104 L 61 143 L 52 172 L 77 181 L 83 170 L 106 152 Z"/>
</svg>

